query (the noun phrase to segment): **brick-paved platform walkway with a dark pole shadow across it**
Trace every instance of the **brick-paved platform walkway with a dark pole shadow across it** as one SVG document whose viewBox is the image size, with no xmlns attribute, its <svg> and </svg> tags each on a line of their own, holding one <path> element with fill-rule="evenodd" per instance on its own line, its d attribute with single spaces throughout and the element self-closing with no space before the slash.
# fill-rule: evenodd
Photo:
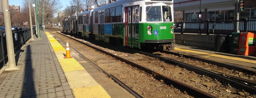
<svg viewBox="0 0 256 98">
<path fill-rule="evenodd" d="M 45 33 L 28 42 L 16 56 L 17 71 L 0 75 L 0 98 L 74 98 Z"/>
</svg>

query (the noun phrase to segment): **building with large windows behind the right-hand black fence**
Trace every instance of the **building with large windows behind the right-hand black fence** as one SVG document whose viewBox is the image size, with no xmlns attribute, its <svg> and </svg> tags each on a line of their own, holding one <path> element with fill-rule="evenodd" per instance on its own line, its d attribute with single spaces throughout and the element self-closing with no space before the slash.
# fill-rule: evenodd
<svg viewBox="0 0 256 98">
<path fill-rule="evenodd" d="M 242 1 L 239 19 L 256 20 L 255 0 Z M 183 22 L 237 20 L 237 4 L 237 0 L 174 0 L 174 11 L 183 11 Z"/>
</svg>

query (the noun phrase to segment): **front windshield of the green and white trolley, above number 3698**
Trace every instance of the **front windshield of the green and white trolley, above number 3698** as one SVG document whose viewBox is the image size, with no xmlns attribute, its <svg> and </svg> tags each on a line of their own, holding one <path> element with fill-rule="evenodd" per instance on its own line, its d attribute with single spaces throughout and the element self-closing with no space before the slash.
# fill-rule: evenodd
<svg viewBox="0 0 256 98">
<path fill-rule="evenodd" d="M 163 15 L 162 15 L 163 14 Z M 168 6 L 147 6 L 146 21 L 147 22 L 171 22 L 171 7 Z"/>
</svg>

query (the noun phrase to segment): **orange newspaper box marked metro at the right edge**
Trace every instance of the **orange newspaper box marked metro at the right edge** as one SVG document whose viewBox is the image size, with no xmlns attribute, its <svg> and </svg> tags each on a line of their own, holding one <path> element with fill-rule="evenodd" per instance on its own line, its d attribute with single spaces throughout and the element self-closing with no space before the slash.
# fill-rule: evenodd
<svg viewBox="0 0 256 98">
<path fill-rule="evenodd" d="M 255 42 L 256 34 L 251 32 L 241 32 L 237 54 L 242 54 L 245 56 L 254 56 Z"/>
</svg>

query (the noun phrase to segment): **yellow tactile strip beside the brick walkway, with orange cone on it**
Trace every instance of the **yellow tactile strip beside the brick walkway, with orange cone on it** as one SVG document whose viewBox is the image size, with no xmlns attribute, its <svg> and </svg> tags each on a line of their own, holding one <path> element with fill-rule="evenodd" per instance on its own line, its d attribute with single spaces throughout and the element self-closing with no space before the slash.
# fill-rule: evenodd
<svg viewBox="0 0 256 98">
<path fill-rule="evenodd" d="M 66 49 L 49 32 L 45 33 L 74 92 L 75 98 L 111 98 L 77 60 L 74 58 L 64 59 Z"/>
</svg>

